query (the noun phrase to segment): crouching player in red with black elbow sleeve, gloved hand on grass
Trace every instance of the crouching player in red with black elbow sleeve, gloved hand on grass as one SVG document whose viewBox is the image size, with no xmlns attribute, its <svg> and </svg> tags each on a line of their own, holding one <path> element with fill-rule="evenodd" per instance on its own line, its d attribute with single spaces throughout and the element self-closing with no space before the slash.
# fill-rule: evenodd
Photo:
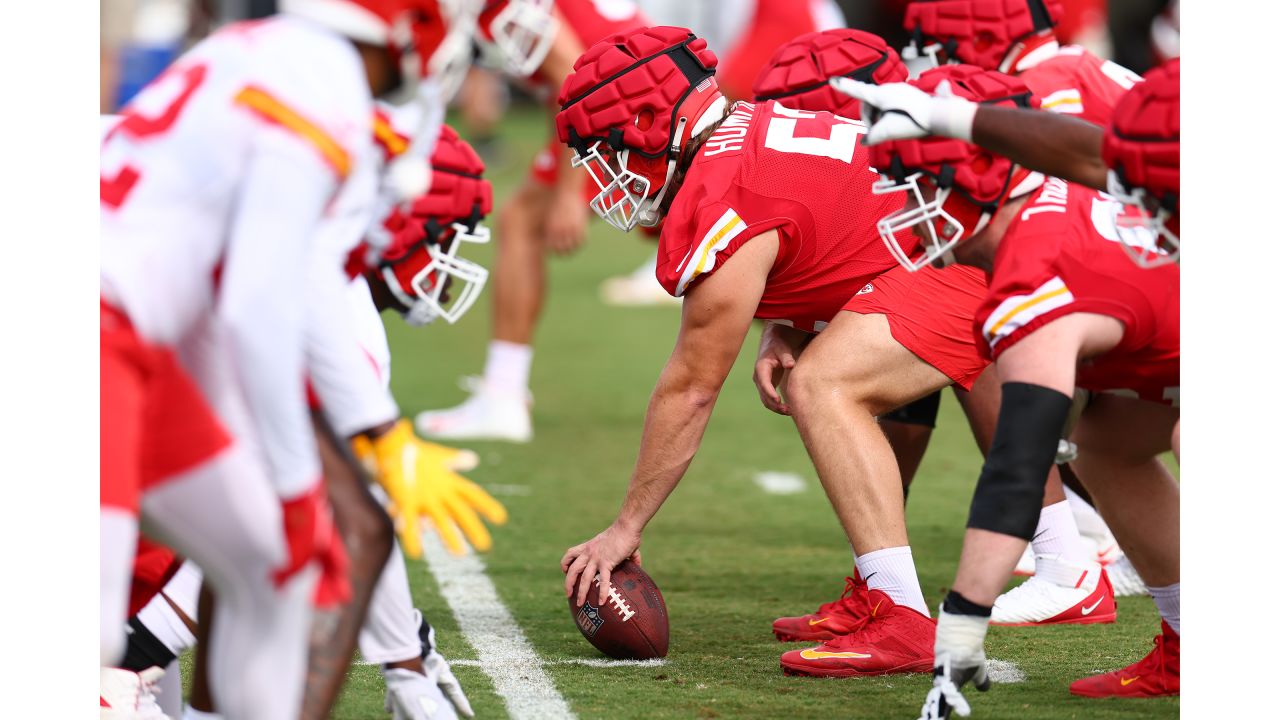
<svg viewBox="0 0 1280 720">
<path fill-rule="evenodd" d="M 918 83 L 934 90 L 941 82 L 970 102 L 1009 104 L 1029 94 L 1014 78 L 973 67 L 940 68 Z M 1178 266 L 1144 270 L 1129 261 L 1121 243 L 1152 241 L 1135 240 L 1144 228 L 1117 232 L 1114 197 L 1057 178 L 1018 196 L 1007 188 L 1032 172 L 974 145 L 892 141 L 872 149 L 872 163 L 887 169 L 882 192 L 909 199 L 906 209 L 879 223 L 896 255 L 925 263 L 954 256 L 991 274 L 974 332 L 1004 383 L 996 441 L 938 620 L 934 687 L 923 717 L 968 715 L 959 688 L 969 680 L 979 689 L 989 684 L 983 639 L 991 605 L 1034 530 L 1042 473 L 1053 461 L 1075 387 L 1096 393 L 1073 434 L 1082 479 L 1146 579 L 1164 624 L 1147 659 L 1078 682 L 1073 692 L 1176 694 L 1179 492 L 1158 455 L 1170 448 L 1178 421 Z M 906 228 L 918 246 L 900 245 Z"/>
</svg>

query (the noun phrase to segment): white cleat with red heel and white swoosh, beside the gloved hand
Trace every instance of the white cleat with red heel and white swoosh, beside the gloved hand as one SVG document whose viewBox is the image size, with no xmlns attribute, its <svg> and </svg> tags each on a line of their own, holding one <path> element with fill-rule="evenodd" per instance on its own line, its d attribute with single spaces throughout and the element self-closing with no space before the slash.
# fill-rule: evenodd
<svg viewBox="0 0 1280 720">
<path fill-rule="evenodd" d="M 1037 555 L 1036 574 L 996 598 L 992 625 L 1115 623 L 1116 601 L 1106 570 L 1097 562 L 1070 562 Z"/>
</svg>

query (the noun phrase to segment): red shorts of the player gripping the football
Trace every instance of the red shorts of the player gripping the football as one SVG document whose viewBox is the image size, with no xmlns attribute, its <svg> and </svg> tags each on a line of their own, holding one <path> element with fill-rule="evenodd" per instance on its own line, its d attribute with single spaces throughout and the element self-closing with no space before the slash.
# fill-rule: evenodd
<svg viewBox="0 0 1280 720">
<path fill-rule="evenodd" d="M 867 283 L 844 309 L 884 315 L 893 340 L 969 389 L 989 364 L 973 336 L 973 318 L 986 296 L 987 275 L 977 268 L 909 273 L 897 266 Z"/>
</svg>

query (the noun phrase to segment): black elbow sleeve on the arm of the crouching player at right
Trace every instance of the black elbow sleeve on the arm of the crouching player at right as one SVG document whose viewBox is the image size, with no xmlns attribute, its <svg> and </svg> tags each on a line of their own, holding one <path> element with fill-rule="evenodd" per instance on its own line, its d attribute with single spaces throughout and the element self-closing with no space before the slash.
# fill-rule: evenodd
<svg viewBox="0 0 1280 720">
<path fill-rule="evenodd" d="M 1029 541 L 1071 398 L 1029 383 L 1005 383 L 1001 391 L 996 438 L 973 492 L 969 527 Z"/>
</svg>

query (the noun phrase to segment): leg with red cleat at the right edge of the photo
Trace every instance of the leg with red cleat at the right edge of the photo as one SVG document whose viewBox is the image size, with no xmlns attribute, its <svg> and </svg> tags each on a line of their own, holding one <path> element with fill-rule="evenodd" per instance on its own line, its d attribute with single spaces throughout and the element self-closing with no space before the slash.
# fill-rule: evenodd
<svg viewBox="0 0 1280 720">
<path fill-rule="evenodd" d="M 1073 439 L 1075 465 L 1125 556 L 1147 582 L 1162 619 L 1156 647 L 1129 667 L 1071 684 L 1085 697 L 1178 694 L 1180 687 L 1179 488 L 1158 455 L 1170 450 L 1178 410 L 1102 395 Z"/>
</svg>

